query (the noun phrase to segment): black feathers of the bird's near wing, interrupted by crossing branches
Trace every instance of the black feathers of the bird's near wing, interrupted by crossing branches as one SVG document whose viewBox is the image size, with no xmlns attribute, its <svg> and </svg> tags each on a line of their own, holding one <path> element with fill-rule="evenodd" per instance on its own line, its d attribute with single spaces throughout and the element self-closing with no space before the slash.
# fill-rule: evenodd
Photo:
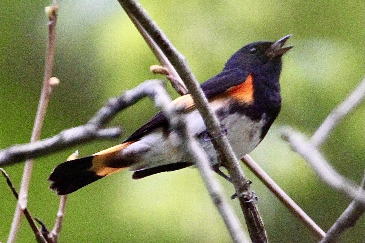
<svg viewBox="0 0 365 243">
<path fill-rule="evenodd" d="M 205 97 L 207 97 L 207 99 L 210 99 L 215 95 L 224 93 L 231 87 L 240 85 L 241 83 L 245 82 L 248 76 L 249 73 L 245 73 L 238 68 L 223 70 L 218 75 L 202 83 L 200 87 L 203 90 Z M 187 108 L 191 108 L 191 106 L 187 106 Z M 139 140 L 146 133 L 149 133 L 151 130 L 161 126 L 168 127 L 169 121 L 160 111 L 150 121 L 148 121 L 145 125 L 135 131 L 130 137 L 128 137 L 127 140 L 124 142 Z"/>
</svg>

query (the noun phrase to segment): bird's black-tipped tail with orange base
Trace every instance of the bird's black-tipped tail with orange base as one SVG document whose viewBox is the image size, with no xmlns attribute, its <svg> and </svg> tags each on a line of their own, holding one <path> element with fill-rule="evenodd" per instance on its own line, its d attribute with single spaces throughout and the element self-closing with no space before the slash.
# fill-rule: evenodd
<svg viewBox="0 0 365 243">
<path fill-rule="evenodd" d="M 91 156 L 59 164 L 48 178 L 50 188 L 57 191 L 57 195 L 69 194 L 130 166 L 128 161 L 116 161 L 116 155 L 131 143 L 119 144 Z"/>
</svg>

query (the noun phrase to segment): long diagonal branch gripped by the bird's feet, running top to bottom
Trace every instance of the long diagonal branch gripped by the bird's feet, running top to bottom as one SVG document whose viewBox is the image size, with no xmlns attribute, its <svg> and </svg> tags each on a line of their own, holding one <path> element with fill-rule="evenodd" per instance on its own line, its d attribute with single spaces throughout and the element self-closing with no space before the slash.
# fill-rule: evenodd
<svg viewBox="0 0 365 243">
<path fill-rule="evenodd" d="M 263 227 L 262 219 L 258 213 L 256 205 L 251 200 L 253 192 L 250 190 L 249 184 L 246 183 L 245 176 L 239 165 L 233 149 L 231 148 L 226 136 L 217 136 L 221 132 L 221 126 L 215 114 L 211 111 L 208 105 L 208 100 L 199 87 L 195 76 L 183 55 L 176 50 L 170 43 L 165 34 L 157 26 L 157 24 L 147 15 L 146 11 L 135 0 L 118 0 L 129 15 L 133 15 L 141 24 L 143 29 L 149 34 L 151 39 L 157 44 L 161 51 L 166 55 L 170 63 L 176 69 L 178 75 L 188 87 L 189 93 L 192 95 L 197 110 L 203 117 L 211 137 L 217 137 L 212 140 L 215 144 L 215 149 L 220 154 L 222 166 L 224 166 L 235 186 L 240 205 L 245 216 L 246 224 L 249 229 L 250 237 L 254 243 L 267 242 L 266 232 Z M 252 209 L 252 210 L 250 210 Z"/>
</svg>

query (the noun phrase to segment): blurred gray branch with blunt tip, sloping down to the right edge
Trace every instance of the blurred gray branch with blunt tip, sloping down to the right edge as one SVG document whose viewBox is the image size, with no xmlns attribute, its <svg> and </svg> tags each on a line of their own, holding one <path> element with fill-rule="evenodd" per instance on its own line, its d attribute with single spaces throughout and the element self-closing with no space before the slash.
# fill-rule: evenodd
<svg viewBox="0 0 365 243">
<path fill-rule="evenodd" d="M 289 142 L 295 152 L 299 153 L 309 162 L 314 171 L 327 185 L 345 193 L 359 203 L 365 204 L 365 191 L 358 191 L 358 186 L 355 183 L 335 171 L 318 151 L 317 147 L 311 144 L 311 142 L 308 142 L 303 134 L 291 128 L 286 128 L 283 130 L 281 136 Z"/>
</svg>

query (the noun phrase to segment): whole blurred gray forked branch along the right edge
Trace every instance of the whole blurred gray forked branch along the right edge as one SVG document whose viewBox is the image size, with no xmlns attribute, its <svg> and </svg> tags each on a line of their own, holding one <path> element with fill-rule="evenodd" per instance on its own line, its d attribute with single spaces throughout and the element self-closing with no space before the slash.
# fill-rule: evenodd
<svg viewBox="0 0 365 243">
<path fill-rule="evenodd" d="M 326 236 L 320 243 L 334 242 L 347 228 L 353 226 L 358 217 L 365 210 L 365 188 L 364 180 L 360 188 L 349 179 L 343 177 L 326 161 L 319 152 L 318 146 L 327 138 L 328 134 L 334 127 L 349 114 L 365 97 L 365 78 L 360 85 L 337 106 L 328 117 L 323 121 L 316 130 L 311 140 L 308 141 L 303 134 L 294 131 L 291 128 L 284 129 L 282 137 L 288 141 L 292 149 L 299 153 L 315 170 L 324 182 L 353 199 L 353 202 L 347 207 L 345 212 L 338 218 L 335 224 L 328 230 Z"/>
</svg>

